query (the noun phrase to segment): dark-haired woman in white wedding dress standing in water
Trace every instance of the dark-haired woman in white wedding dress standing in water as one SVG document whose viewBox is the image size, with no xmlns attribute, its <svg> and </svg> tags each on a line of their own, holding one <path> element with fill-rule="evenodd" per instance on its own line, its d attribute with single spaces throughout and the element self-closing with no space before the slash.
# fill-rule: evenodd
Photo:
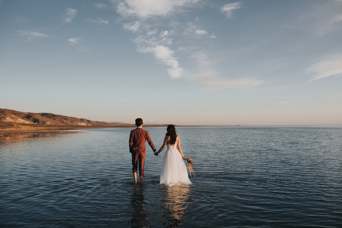
<svg viewBox="0 0 342 228">
<path fill-rule="evenodd" d="M 192 184 L 183 161 L 185 157 L 182 152 L 180 138 L 176 135 L 176 129 L 170 124 L 166 130 L 167 133 L 165 134 L 163 145 L 154 153 L 158 156 L 165 146 L 168 147 L 161 168 L 160 184 L 165 184 L 169 187 L 181 184 Z"/>
</svg>

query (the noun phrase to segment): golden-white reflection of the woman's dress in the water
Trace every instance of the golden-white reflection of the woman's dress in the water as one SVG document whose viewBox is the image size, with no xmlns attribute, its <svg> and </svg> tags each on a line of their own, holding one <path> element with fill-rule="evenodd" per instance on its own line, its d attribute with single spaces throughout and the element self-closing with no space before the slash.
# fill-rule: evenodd
<svg viewBox="0 0 342 228">
<path fill-rule="evenodd" d="M 164 216 L 165 227 L 177 227 L 185 223 L 181 218 L 188 207 L 189 185 L 176 185 L 172 187 L 162 186 L 165 189 L 164 205 L 166 213 Z"/>
</svg>

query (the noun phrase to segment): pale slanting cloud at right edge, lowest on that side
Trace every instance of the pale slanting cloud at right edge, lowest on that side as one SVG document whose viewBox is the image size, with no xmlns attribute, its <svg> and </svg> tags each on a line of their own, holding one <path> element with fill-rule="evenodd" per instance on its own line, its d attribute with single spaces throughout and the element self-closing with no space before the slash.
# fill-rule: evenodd
<svg viewBox="0 0 342 228">
<path fill-rule="evenodd" d="M 308 73 L 312 74 L 310 81 L 326 78 L 337 73 L 342 73 L 342 58 L 332 61 L 320 61 L 312 64 L 305 69 Z"/>
</svg>

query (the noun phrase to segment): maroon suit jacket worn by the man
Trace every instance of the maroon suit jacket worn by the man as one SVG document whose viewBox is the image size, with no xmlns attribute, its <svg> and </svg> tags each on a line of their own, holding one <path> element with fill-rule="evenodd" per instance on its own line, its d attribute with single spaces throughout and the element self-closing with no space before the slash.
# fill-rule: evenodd
<svg viewBox="0 0 342 228">
<path fill-rule="evenodd" d="M 146 140 L 152 150 L 155 152 L 156 148 L 154 147 L 153 142 L 149 137 L 148 131 L 144 130 L 143 128 L 136 128 L 132 130 L 129 136 L 129 152 L 146 153 Z"/>
</svg>

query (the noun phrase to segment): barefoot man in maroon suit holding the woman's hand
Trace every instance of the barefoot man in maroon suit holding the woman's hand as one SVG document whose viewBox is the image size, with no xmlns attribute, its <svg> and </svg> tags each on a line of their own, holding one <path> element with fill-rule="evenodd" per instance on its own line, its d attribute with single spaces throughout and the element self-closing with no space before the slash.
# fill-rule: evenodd
<svg viewBox="0 0 342 228">
<path fill-rule="evenodd" d="M 144 176 L 144 163 L 145 163 L 145 153 L 146 147 L 145 142 L 147 140 L 148 144 L 152 148 L 153 152 L 156 152 L 156 148 L 153 145 L 151 138 L 149 137 L 148 131 L 144 130 L 142 126 L 144 125 L 141 118 L 135 120 L 136 129 L 131 131 L 129 136 L 129 152 L 132 153 L 132 165 L 133 165 L 133 176 L 134 182 L 136 184 L 136 172 L 138 169 L 139 161 L 139 176 L 140 182 L 143 182 Z"/>
</svg>

